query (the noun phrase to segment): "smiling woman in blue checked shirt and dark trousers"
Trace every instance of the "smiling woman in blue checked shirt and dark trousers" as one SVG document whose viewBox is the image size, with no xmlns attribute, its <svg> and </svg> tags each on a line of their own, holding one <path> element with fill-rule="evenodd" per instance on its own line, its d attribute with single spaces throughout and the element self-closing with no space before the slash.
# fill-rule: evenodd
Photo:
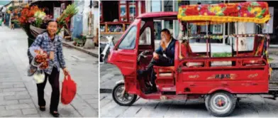
<svg viewBox="0 0 278 118">
<path fill-rule="evenodd" d="M 30 47 L 40 47 L 48 53 L 49 66 L 44 70 L 45 80 L 43 83 L 37 84 L 38 90 L 38 105 L 41 111 L 45 111 L 45 99 L 44 89 L 47 80 L 49 80 L 52 87 L 51 102 L 50 102 L 50 114 L 53 117 L 59 117 L 58 104 L 60 100 L 60 87 L 59 87 L 59 75 L 60 69 L 62 68 L 65 76 L 69 73 L 65 66 L 65 58 L 62 53 L 62 38 L 57 36 L 57 22 L 49 21 L 47 26 L 47 32 L 37 36 L 35 42 Z M 28 51 L 28 57 L 31 61 L 32 55 Z M 30 63 L 30 62 L 29 62 Z"/>
</svg>

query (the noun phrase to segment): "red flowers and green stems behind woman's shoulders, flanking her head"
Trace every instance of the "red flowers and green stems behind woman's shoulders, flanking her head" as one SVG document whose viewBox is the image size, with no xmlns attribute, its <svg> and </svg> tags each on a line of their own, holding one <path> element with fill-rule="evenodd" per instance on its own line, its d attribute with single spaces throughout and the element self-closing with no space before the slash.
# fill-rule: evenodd
<svg viewBox="0 0 278 118">
<path fill-rule="evenodd" d="M 67 6 L 67 9 L 57 18 L 57 34 L 60 33 L 63 27 L 67 30 L 67 23 L 75 14 L 77 14 L 77 7 L 74 4 Z M 34 40 L 38 34 L 45 32 L 47 23 L 50 20 L 52 20 L 52 16 L 45 14 L 43 9 L 38 8 L 38 6 L 28 5 L 22 9 L 21 16 L 18 18 L 19 23 L 28 35 L 28 40 Z M 30 46 L 30 43 L 33 43 L 33 41 L 29 41 L 28 43 Z"/>
</svg>

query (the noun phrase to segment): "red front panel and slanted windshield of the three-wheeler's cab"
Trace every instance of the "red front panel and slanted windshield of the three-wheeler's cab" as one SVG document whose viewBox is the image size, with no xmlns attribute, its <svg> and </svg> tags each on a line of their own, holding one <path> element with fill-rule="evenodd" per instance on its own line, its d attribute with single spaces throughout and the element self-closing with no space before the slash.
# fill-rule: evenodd
<svg viewBox="0 0 278 118">
<path fill-rule="evenodd" d="M 130 94 L 136 92 L 140 23 L 140 19 L 133 21 L 109 55 L 109 63 L 116 65 L 121 70 L 125 80 L 126 92 Z"/>
</svg>

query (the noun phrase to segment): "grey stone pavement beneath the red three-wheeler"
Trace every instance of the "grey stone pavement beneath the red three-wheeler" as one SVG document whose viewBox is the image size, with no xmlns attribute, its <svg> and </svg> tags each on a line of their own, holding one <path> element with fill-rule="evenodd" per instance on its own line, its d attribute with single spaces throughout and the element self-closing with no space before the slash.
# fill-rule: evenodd
<svg viewBox="0 0 278 118">
<path fill-rule="evenodd" d="M 240 95 L 230 117 L 277 117 L 278 100 L 269 95 Z M 143 100 L 139 98 L 132 106 L 119 106 L 111 94 L 100 95 L 100 117 L 213 117 L 206 110 L 204 100 Z"/>
</svg>

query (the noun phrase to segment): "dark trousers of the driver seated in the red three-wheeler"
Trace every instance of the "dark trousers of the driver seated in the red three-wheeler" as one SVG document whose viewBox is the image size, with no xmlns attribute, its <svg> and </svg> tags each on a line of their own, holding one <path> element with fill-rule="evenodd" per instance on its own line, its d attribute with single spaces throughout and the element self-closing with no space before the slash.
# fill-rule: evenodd
<svg viewBox="0 0 278 118">
<path fill-rule="evenodd" d="M 155 70 L 153 70 L 153 65 L 157 65 L 157 66 L 172 66 L 174 64 L 170 63 L 169 58 L 166 58 L 163 55 L 159 55 L 158 60 L 155 60 L 154 58 L 152 58 L 152 60 L 150 61 L 150 64 L 148 65 L 146 71 L 147 73 L 151 73 L 151 80 L 150 82 L 152 82 L 152 87 L 156 88 L 156 84 L 155 84 Z"/>
</svg>

